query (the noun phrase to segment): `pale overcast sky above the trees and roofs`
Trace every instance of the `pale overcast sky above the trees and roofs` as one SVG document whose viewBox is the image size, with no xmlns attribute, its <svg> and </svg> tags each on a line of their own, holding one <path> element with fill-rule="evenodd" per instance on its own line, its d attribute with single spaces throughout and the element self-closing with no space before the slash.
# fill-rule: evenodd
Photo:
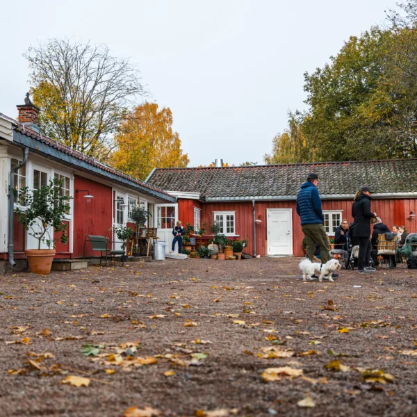
<svg viewBox="0 0 417 417">
<path fill-rule="evenodd" d="M 148 101 L 169 107 L 189 166 L 263 164 L 304 72 L 351 35 L 384 23 L 395 0 L 20 0 L 0 3 L 0 112 L 28 90 L 24 51 L 49 38 L 106 44 L 138 65 Z"/>
</svg>

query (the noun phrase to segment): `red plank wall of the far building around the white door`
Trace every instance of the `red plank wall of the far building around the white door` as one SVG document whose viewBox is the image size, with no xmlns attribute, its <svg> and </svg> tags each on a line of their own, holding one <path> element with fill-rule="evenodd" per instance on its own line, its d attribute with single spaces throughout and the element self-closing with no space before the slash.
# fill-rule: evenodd
<svg viewBox="0 0 417 417">
<path fill-rule="evenodd" d="M 323 210 L 342 210 L 342 218 L 347 218 L 348 222 L 352 222 L 352 203 L 353 200 L 323 200 Z M 179 200 L 179 219 L 185 223 L 193 224 L 193 200 Z M 236 234 L 240 239 L 249 239 L 247 252 L 253 254 L 253 213 L 252 202 L 225 202 L 225 203 L 206 203 L 201 205 L 202 208 L 202 222 L 206 222 L 206 230 L 210 229 L 213 223 L 213 211 L 236 211 Z M 282 202 L 256 202 L 255 211 L 256 219 L 261 220 L 261 223 L 256 224 L 256 254 L 261 256 L 266 255 L 266 209 L 267 208 L 292 208 L 293 210 L 293 254 L 295 256 L 303 256 L 304 250 L 302 248 L 302 240 L 304 234 L 302 233 L 300 218 L 295 211 L 295 201 Z M 374 199 L 371 202 L 371 209 L 375 211 L 382 221 L 391 229 L 393 224 L 404 225 L 407 231 L 417 231 L 417 218 L 408 220 L 410 211 L 417 214 L 417 199 Z M 260 217 L 259 217 L 260 216 Z M 208 234 L 210 232 L 207 232 Z"/>
</svg>

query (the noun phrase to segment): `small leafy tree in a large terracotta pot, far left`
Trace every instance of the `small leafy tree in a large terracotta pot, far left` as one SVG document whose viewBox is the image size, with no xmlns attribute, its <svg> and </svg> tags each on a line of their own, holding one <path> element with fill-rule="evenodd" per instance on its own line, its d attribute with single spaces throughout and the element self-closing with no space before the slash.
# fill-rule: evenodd
<svg viewBox="0 0 417 417">
<path fill-rule="evenodd" d="M 55 243 L 58 240 L 52 236 L 60 232 L 60 243 L 65 244 L 68 241 L 67 223 L 63 222 L 63 218 L 70 211 L 67 202 L 72 197 L 60 195 L 62 184 L 63 180 L 49 181 L 49 186 L 43 186 L 33 192 L 25 187 L 18 195 L 19 204 L 24 208 L 17 208 L 17 221 L 30 236 L 38 240 L 38 249 L 24 251 L 29 270 L 36 274 L 51 272 Z M 41 249 L 42 243 L 47 245 L 48 249 Z"/>
</svg>

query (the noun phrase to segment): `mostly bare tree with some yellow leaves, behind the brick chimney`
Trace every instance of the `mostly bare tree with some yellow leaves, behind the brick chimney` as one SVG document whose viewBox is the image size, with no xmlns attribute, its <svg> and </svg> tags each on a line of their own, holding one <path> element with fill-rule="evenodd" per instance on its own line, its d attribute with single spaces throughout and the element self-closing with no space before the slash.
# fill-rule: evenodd
<svg viewBox="0 0 417 417">
<path fill-rule="evenodd" d="M 145 95 L 136 67 L 114 58 L 106 45 L 49 40 L 24 57 L 32 70 L 39 124 L 50 138 L 106 161 L 113 135 L 133 100 Z"/>
</svg>

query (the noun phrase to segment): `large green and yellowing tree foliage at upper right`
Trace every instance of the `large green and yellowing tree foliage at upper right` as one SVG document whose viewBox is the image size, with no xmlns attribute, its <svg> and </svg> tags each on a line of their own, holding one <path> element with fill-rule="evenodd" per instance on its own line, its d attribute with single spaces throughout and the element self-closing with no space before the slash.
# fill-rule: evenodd
<svg viewBox="0 0 417 417">
<path fill-rule="evenodd" d="M 304 74 L 309 108 L 290 113 L 265 163 L 417 157 L 417 0 L 400 12 Z"/>
</svg>

